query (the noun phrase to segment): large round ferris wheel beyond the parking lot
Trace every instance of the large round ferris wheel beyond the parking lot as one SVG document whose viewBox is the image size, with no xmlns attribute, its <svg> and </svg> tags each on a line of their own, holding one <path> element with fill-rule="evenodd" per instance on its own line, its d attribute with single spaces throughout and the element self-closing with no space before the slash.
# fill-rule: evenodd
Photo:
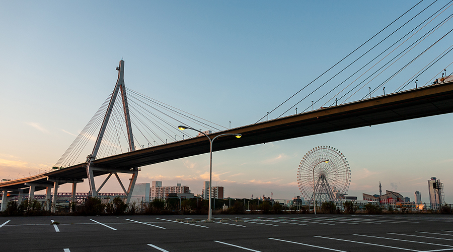
<svg viewBox="0 0 453 252">
<path fill-rule="evenodd" d="M 316 195 L 319 202 L 336 201 L 348 192 L 350 182 L 351 168 L 338 149 L 318 146 L 300 160 L 297 184 L 306 199 L 313 201 Z"/>
</svg>

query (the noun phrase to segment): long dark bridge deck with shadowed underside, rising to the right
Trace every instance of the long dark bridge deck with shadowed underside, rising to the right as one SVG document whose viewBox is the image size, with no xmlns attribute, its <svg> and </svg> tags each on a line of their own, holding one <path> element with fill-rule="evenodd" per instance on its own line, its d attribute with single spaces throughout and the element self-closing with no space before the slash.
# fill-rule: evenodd
<svg viewBox="0 0 453 252">
<path fill-rule="evenodd" d="M 217 132 L 240 133 L 241 139 L 223 136 L 215 140 L 214 151 L 335 132 L 370 125 L 420 118 L 453 112 L 453 82 L 412 89 L 338 106 L 290 115 L 244 127 Z M 176 127 L 177 125 L 175 125 Z M 205 137 L 196 137 L 156 147 L 140 149 L 95 160 L 94 176 L 112 171 L 128 171 L 130 167 L 156 164 L 209 152 Z M 1 188 L 25 188 L 25 182 L 49 183 L 53 178 L 87 178 L 87 163 L 74 165 L 46 174 L 2 183 Z M 45 188 L 45 187 L 42 187 Z M 38 187 L 36 187 L 38 190 Z"/>
</svg>

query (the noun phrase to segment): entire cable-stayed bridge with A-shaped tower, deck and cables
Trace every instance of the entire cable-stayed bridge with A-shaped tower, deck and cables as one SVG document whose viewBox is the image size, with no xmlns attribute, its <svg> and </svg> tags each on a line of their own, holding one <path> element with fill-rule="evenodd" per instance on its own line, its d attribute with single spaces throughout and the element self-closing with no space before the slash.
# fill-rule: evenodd
<svg viewBox="0 0 453 252">
<path fill-rule="evenodd" d="M 401 35 L 395 40 L 395 43 L 389 43 L 389 46 L 383 48 L 380 53 L 370 57 L 371 60 L 361 61 L 363 60 L 362 56 L 369 52 L 369 50 L 365 50 L 365 53 L 358 56 L 337 74 L 331 78 L 325 78 L 324 74 L 340 64 L 346 56 L 321 75 L 323 78 L 320 79 L 321 76 L 316 78 L 291 96 L 290 98 L 295 97 L 298 93 L 304 93 L 303 99 L 295 104 L 293 103 L 292 106 L 285 107 L 284 109 L 287 108 L 287 110 L 278 117 L 269 120 L 266 118 L 269 116 L 267 114 L 256 123 L 235 129 L 223 127 L 223 130 L 221 130 L 221 126 L 218 124 L 127 89 L 123 78 L 124 61 L 121 60 L 117 68 L 118 80 L 114 91 L 54 165 L 54 171 L 0 183 L 0 191 L 4 192 L 2 210 L 6 205 L 8 192 L 18 193 L 20 195 L 19 200 L 22 200 L 24 195 L 30 199 L 33 198 L 35 191 L 46 189 L 46 195 L 50 199 L 52 187 L 53 194 L 57 195 L 59 184 L 72 183 L 72 191 L 75 194 L 77 183 L 88 179 L 90 194 L 96 196 L 105 182 L 112 176 L 117 178 L 124 193 L 130 199 L 139 167 L 209 152 L 209 141 L 204 136 L 192 137 L 186 132 L 180 132 L 177 130 L 177 126 L 180 124 L 193 128 L 209 129 L 213 132 L 208 134 L 210 138 L 225 133 L 242 134 L 243 137 L 239 140 L 232 136 L 218 138 L 213 145 L 213 150 L 219 151 L 453 112 L 453 79 L 451 74 L 447 75 L 446 73 L 446 68 L 453 62 L 450 64 L 442 62 L 453 49 L 453 45 L 443 43 L 444 38 L 450 34 L 451 30 L 435 33 L 440 31 L 438 29 L 447 23 L 453 14 L 446 16 L 437 23 L 431 22 L 437 17 L 442 17 L 439 15 L 450 6 L 451 4 L 448 3 L 439 10 L 435 10 L 431 16 L 423 15 L 427 19 L 415 25 L 414 29 L 407 34 Z M 432 25 L 426 26 L 429 23 Z M 418 36 L 416 34 L 423 31 L 420 27 L 426 29 L 426 32 L 423 34 L 420 32 L 421 35 Z M 425 40 L 428 37 L 435 39 Z M 381 46 L 381 42 L 375 46 Z M 409 45 L 403 47 L 405 43 Z M 364 44 L 348 56 L 356 51 L 361 51 Z M 416 46 L 425 47 L 418 50 L 420 53 L 415 53 L 409 57 L 410 54 L 407 53 Z M 436 46 L 439 46 L 439 48 L 434 53 L 432 51 L 436 49 Z M 428 54 L 428 59 L 424 58 Z M 399 60 L 404 60 L 404 56 L 409 58 L 401 64 Z M 416 70 L 411 69 L 411 66 L 414 66 L 420 59 L 422 59 L 422 63 L 414 68 Z M 358 70 L 352 71 L 350 75 L 344 75 L 344 70 L 355 62 L 360 62 Z M 441 65 L 437 66 L 437 62 L 441 62 Z M 440 69 L 440 71 L 432 72 L 432 66 Z M 383 77 L 386 70 L 390 71 L 389 68 L 396 70 L 393 74 Z M 409 71 L 409 74 L 404 73 L 406 70 Z M 417 86 L 418 79 L 423 77 L 422 74 L 428 73 L 427 70 L 431 71 L 429 76 L 431 79 L 424 78 L 428 81 L 425 81 L 424 85 L 419 84 Z M 441 77 L 440 74 L 442 74 Z M 397 75 L 410 77 L 405 81 L 396 81 Z M 343 81 L 334 79 L 338 76 L 342 76 Z M 322 83 L 316 84 L 320 80 L 322 80 Z M 313 97 L 310 95 L 320 88 L 329 86 L 326 84 L 331 80 L 332 82 L 335 81 L 336 84 L 330 85 L 330 90 L 324 90 L 319 97 L 313 99 L 312 103 L 308 102 L 310 105 L 305 110 L 297 113 L 297 104 L 303 101 L 307 102 L 308 97 Z M 397 88 L 394 92 L 385 94 L 385 87 L 387 86 L 389 89 L 392 83 L 398 83 Z M 317 86 L 312 88 L 313 85 Z M 373 85 L 372 89 L 369 87 L 371 85 Z M 403 90 L 408 85 L 415 86 L 415 88 Z M 363 92 L 363 89 L 366 92 Z M 383 95 L 375 96 L 375 92 L 381 91 L 381 89 Z M 360 94 L 360 90 L 362 90 L 364 96 L 351 102 L 351 99 L 353 99 L 351 97 L 354 94 Z M 329 95 L 330 97 L 327 97 Z M 276 109 L 286 104 L 285 102 L 277 106 Z M 321 108 L 315 109 L 315 104 L 317 104 L 317 107 L 319 107 L 318 104 L 323 105 Z M 294 108 L 296 113 L 288 115 L 288 111 Z M 270 110 L 271 113 L 274 110 Z M 177 118 L 177 116 L 179 117 Z M 87 151 L 84 148 L 88 143 L 91 143 L 91 140 L 95 142 L 94 148 L 85 159 Z M 136 148 L 137 146 L 138 148 Z M 118 173 L 131 174 L 129 185 L 124 186 Z M 94 177 L 106 174 L 108 176 L 104 182 L 96 186 Z M 56 199 L 53 200 L 55 202 Z"/>
</svg>

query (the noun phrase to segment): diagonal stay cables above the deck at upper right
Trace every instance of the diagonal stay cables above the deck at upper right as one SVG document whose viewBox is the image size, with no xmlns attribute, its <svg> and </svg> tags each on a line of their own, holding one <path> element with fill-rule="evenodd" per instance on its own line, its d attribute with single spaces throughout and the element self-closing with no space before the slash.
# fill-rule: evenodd
<svg viewBox="0 0 453 252">
<path fill-rule="evenodd" d="M 427 3 L 425 6 L 421 4 L 423 2 L 420 1 L 417 4 L 415 4 L 413 7 L 411 7 L 408 11 L 406 11 L 403 15 L 399 16 L 396 20 L 391 22 L 389 25 L 387 25 L 384 29 L 373 35 L 370 39 L 368 39 L 365 43 L 361 44 L 359 47 L 354 49 L 352 52 L 347 54 L 345 57 L 343 57 L 340 61 L 338 61 L 334 66 L 329 68 L 327 71 L 325 71 L 323 74 L 318 76 L 314 81 L 308 83 L 305 85 L 303 88 L 298 90 L 295 94 L 291 95 L 288 99 L 286 99 L 284 102 L 280 103 L 277 107 L 274 109 L 270 110 L 268 114 L 276 111 L 277 109 L 281 109 L 283 104 L 287 104 L 291 99 L 296 98 L 296 95 L 299 94 L 301 91 L 306 90 L 307 93 L 303 96 L 303 98 L 299 99 L 298 101 L 294 102 L 292 105 L 288 106 L 287 109 L 285 109 L 282 113 L 280 112 L 280 115 L 278 115 L 276 118 L 279 118 L 281 116 L 287 115 L 288 111 L 293 109 L 295 106 L 297 106 L 301 102 L 307 102 L 309 97 L 314 97 L 316 99 L 313 99 L 313 101 L 310 104 L 307 104 L 306 109 L 302 110 L 299 113 L 306 112 L 307 110 L 312 107 L 312 109 L 315 109 L 315 104 L 322 102 L 323 105 L 321 105 L 321 108 L 323 108 L 326 104 L 330 104 L 332 100 L 335 100 L 335 102 L 331 103 L 330 106 L 333 105 L 338 105 L 338 104 L 343 104 L 346 102 L 351 102 L 355 100 L 360 100 L 364 99 L 367 96 L 371 96 L 377 91 L 379 88 L 382 88 L 384 85 L 389 85 L 389 88 L 392 88 L 390 85 L 394 86 L 399 86 L 395 92 L 400 92 L 404 88 L 407 87 L 407 85 L 411 82 L 413 82 L 416 78 L 426 78 L 426 74 L 430 74 L 433 71 L 427 71 L 428 69 L 433 69 L 433 67 L 438 67 L 439 69 L 441 68 L 446 69 L 446 67 L 450 66 L 451 63 L 445 62 L 444 56 L 450 52 L 449 47 L 450 44 L 446 41 L 446 37 L 450 34 L 450 30 L 445 30 L 445 28 L 442 28 L 444 24 L 447 22 L 451 22 L 451 17 L 453 14 L 451 14 L 450 7 L 453 5 L 451 4 L 453 1 L 449 1 L 447 4 L 443 3 L 437 3 L 438 0 L 435 0 L 433 2 Z M 413 15 L 410 15 L 412 12 L 414 12 Z M 445 17 L 446 15 L 446 17 Z M 403 20 L 403 17 L 407 16 L 406 20 Z M 428 16 L 428 18 L 421 18 L 422 16 Z M 444 17 L 442 21 L 432 24 L 434 20 Z M 420 20 L 417 23 L 417 20 Z M 398 22 L 397 22 L 398 21 Z M 400 24 L 398 24 L 400 23 Z M 396 25 L 396 29 L 391 30 L 390 28 Z M 445 26 L 446 27 L 446 26 Z M 404 29 L 403 29 L 404 28 Z M 440 29 L 442 28 L 442 29 Z M 417 30 L 418 29 L 418 30 Z M 428 32 L 423 32 L 422 35 L 418 35 L 421 31 L 429 29 Z M 388 31 L 388 35 L 385 34 L 384 31 Z M 382 36 L 383 39 L 379 39 L 379 36 Z M 417 37 L 418 36 L 418 37 Z M 432 38 L 435 37 L 435 42 L 427 44 L 426 41 L 424 41 L 426 38 Z M 406 39 L 405 39 L 406 38 Z M 379 41 L 375 44 L 371 44 L 374 39 L 379 39 Z M 404 39 L 403 42 L 401 42 Z M 391 40 L 394 40 L 392 42 Z M 415 42 L 413 41 L 415 40 Z M 400 43 L 401 42 L 401 43 Z M 400 43 L 400 44 L 398 44 Z M 411 45 L 402 48 L 402 45 L 406 43 L 411 43 Z M 365 48 L 365 44 L 370 44 L 369 49 Z M 423 49 L 417 49 L 418 52 L 421 51 L 421 53 L 416 52 L 414 48 L 419 48 L 425 46 Z M 380 47 L 385 47 L 382 49 L 382 51 L 378 51 Z M 401 48 L 400 48 L 401 47 Z M 447 49 L 445 49 L 447 48 Z M 363 51 L 360 52 L 360 50 Z M 387 54 L 384 55 L 389 51 Z M 430 51 L 430 53 L 426 53 L 427 51 Z M 432 51 L 432 52 L 431 52 Z M 442 56 L 438 53 L 438 51 L 442 51 L 440 54 L 444 53 Z M 410 53 L 409 53 L 410 52 Z M 358 57 L 353 59 L 350 63 L 346 63 L 345 59 L 352 56 L 355 53 L 360 53 Z M 376 54 L 376 56 L 371 56 L 372 54 Z M 412 54 L 415 55 L 408 59 L 406 64 L 400 62 L 404 61 L 406 57 L 412 56 Z M 396 54 L 396 56 L 393 56 Z M 365 55 L 370 55 L 372 57 L 371 60 L 367 62 L 363 62 L 363 65 L 361 65 L 361 61 L 363 61 L 365 58 Z M 433 56 L 434 55 L 434 56 Z M 383 60 L 389 56 L 392 56 L 392 59 L 384 62 Z M 442 59 L 443 60 L 440 60 Z M 432 64 L 426 65 L 426 62 L 431 62 Z M 341 67 L 342 64 L 345 64 L 344 67 Z M 437 64 L 436 64 L 437 63 Z M 360 64 L 359 67 L 357 67 L 357 70 L 353 70 L 351 67 L 353 65 Z M 368 69 L 365 69 L 368 65 L 372 64 Z M 440 65 L 439 65 L 440 64 Z M 325 81 L 319 85 L 316 85 L 317 82 L 319 82 L 321 77 L 327 76 L 327 73 L 334 71 L 335 68 L 341 69 L 332 74 L 330 77 L 325 78 Z M 387 72 L 392 70 L 392 68 L 398 67 L 398 70 L 394 72 L 393 74 L 390 74 L 388 76 Z M 377 70 L 374 70 L 377 69 Z M 347 71 L 350 71 L 351 74 L 348 74 Z M 368 76 L 365 77 L 365 75 L 373 71 L 372 74 L 369 74 Z M 408 71 L 411 71 L 412 73 L 416 72 L 418 75 L 414 77 L 414 74 L 410 73 L 411 78 L 407 79 L 403 77 Z M 404 74 L 402 74 L 404 72 Z M 435 75 L 438 75 L 438 72 L 435 70 L 434 72 L 436 73 L 431 73 L 431 76 L 428 76 L 426 79 L 436 79 Z M 421 76 L 423 73 L 425 73 L 423 76 Z M 345 76 L 345 79 L 338 80 L 338 78 L 341 78 L 341 76 Z M 434 75 L 434 77 L 432 77 Z M 354 77 L 357 76 L 357 77 Z M 354 77 L 354 80 L 351 81 L 348 85 L 344 86 L 344 84 L 351 78 Z M 402 80 L 404 79 L 404 80 Z M 392 82 L 390 82 L 392 80 Z M 339 83 L 335 84 L 333 87 L 329 87 L 326 85 L 327 83 L 332 83 L 333 81 Z M 354 83 L 357 83 L 356 85 L 352 85 Z M 378 82 L 374 84 L 375 82 Z M 403 85 L 400 85 L 400 83 L 403 83 Z M 366 85 L 371 85 L 369 88 L 369 92 L 366 92 L 365 94 L 361 94 L 360 90 L 362 90 Z M 326 86 L 325 86 L 326 85 Z M 311 87 L 313 86 L 313 87 Z M 328 88 L 328 90 L 326 90 Z M 330 88 L 330 89 L 329 89 Z M 336 92 L 335 95 L 332 95 L 331 93 L 338 89 L 341 88 L 341 91 Z M 350 94 L 349 96 L 347 96 Z M 361 95 L 360 97 L 356 97 L 356 95 Z M 319 98 L 320 97 L 320 98 Z M 347 98 L 346 98 L 347 97 Z M 312 100 L 312 99 L 310 99 Z M 318 105 L 319 106 L 319 105 Z M 297 109 L 296 109 L 297 112 Z M 261 117 L 257 122 L 261 121 L 263 118 L 265 118 L 268 114 L 265 116 Z M 257 123 L 256 122 L 256 123 Z"/>
</svg>

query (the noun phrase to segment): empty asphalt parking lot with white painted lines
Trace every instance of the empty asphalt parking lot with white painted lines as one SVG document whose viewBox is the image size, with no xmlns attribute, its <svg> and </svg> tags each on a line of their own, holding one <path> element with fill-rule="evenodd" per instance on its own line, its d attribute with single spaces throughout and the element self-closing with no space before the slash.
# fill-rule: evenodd
<svg viewBox="0 0 453 252">
<path fill-rule="evenodd" d="M 0 250 L 453 251 L 453 216 L 448 215 L 214 218 L 205 223 L 198 219 L 206 216 L 0 217 Z M 226 218 L 231 221 L 221 222 Z"/>
</svg>

